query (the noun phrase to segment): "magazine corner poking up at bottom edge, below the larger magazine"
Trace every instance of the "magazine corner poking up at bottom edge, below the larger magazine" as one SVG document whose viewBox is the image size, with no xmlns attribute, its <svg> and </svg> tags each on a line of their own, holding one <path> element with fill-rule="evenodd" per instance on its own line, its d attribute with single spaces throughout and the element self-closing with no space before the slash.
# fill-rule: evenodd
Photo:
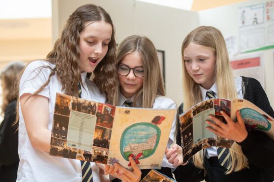
<svg viewBox="0 0 274 182">
<path fill-rule="evenodd" d="M 151 169 L 141 182 L 176 182 L 174 179 Z"/>
</svg>

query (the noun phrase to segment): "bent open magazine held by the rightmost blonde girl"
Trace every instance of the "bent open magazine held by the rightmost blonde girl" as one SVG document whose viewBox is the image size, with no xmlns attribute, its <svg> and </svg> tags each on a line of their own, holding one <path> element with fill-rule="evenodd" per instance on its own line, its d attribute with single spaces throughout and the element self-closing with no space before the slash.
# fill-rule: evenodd
<svg viewBox="0 0 274 182">
<path fill-rule="evenodd" d="M 248 131 L 260 130 L 274 139 L 274 119 L 248 100 L 208 99 L 180 115 L 183 162 L 207 147 L 230 148 L 233 141 L 207 130 L 206 127 L 209 125 L 205 121 L 210 120 L 208 115 L 211 114 L 226 123 L 220 111 L 224 111 L 233 121 L 236 121 L 237 110 L 240 110 Z"/>
</svg>

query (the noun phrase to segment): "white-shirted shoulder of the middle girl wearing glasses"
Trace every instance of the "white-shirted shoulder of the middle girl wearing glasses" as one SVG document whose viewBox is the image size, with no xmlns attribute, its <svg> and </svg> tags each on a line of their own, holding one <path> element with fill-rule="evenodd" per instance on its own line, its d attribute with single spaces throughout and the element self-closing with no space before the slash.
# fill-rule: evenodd
<svg viewBox="0 0 274 182">
<path fill-rule="evenodd" d="M 157 96 L 153 103 L 153 109 L 176 109 L 176 103 L 174 100 L 165 97 L 165 96 Z"/>
</svg>

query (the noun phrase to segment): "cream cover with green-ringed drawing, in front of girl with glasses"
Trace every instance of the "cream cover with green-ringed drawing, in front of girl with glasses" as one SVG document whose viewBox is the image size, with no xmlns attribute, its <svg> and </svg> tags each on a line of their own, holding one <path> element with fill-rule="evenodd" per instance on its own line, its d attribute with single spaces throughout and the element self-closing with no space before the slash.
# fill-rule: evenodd
<svg viewBox="0 0 274 182">
<path fill-rule="evenodd" d="M 110 163 L 131 168 L 128 157 L 140 169 L 160 169 L 176 110 L 116 107 L 109 147 Z"/>
</svg>

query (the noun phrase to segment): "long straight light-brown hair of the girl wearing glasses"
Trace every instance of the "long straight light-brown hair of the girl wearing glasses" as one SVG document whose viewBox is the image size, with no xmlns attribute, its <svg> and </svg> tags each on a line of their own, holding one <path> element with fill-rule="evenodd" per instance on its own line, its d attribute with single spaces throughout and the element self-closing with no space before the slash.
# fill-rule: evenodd
<svg viewBox="0 0 274 182">
<path fill-rule="evenodd" d="M 133 106 L 138 97 L 142 98 L 142 108 L 152 108 L 156 96 L 164 96 L 165 89 L 158 61 L 157 51 L 153 43 L 144 36 L 133 35 L 125 38 L 117 48 L 117 67 L 125 55 L 139 52 L 144 67 L 143 88 L 135 94 Z M 118 77 L 117 77 L 118 79 Z M 114 93 L 113 105 L 119 103 L 120 84 Z"/>
</svg>

